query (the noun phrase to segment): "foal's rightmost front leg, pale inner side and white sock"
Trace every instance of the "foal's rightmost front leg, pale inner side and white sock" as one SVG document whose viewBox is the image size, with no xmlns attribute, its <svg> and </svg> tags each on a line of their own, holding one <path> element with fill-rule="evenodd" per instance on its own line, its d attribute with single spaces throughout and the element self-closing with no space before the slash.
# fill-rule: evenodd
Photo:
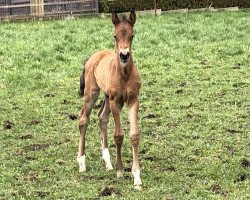
<svg viewBox="0 0 250 200">
<path fill-rule="evenodd" d="M 138 158 L 138 146 L 139 146 L 139 128 L 138 128 L 138 110 L 139 110 L 139 100 L 138 98 L 128 102 L 128 115 L 130 121 L 130 141 L 132 143 L 133 150 L 133 166 L 132 174 L 134 176 L 134 185 L 138 189 L 140 188 L 142 182 L 140 178 L 140 165 Z"/>
</svg>

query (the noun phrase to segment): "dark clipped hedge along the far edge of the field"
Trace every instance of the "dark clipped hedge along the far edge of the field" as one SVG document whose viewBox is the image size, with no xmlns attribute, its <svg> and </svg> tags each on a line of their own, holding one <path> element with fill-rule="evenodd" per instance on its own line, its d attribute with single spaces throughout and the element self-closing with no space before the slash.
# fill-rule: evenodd
<svg viewBox="0 0 250 200">
<path fill-rule="evenodd" d="M 232 6 L 250 7 L 250 0 L 156 0 L 157 8 L 162 10 L 175 10 L 182 8 L 206 8 L 210 5 L 215 8 Z M 154 0 L 101 0 L 100 12 L 128 12 L 135 10 L 154 9 Z"/>
</svg>

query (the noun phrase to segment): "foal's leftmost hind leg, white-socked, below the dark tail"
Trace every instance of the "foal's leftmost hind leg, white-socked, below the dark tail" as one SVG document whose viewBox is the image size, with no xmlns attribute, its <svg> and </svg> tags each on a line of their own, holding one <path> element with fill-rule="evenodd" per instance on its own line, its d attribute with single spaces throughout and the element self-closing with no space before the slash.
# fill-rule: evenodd
<svg viewBox="0 0 250 200">
<path fill-rule="evenodd" d="M 79 115 L 79 149 L 77 161 L 79 163 L 79 172 L 86 171 L 85 165 L 85 134 L 87 131 L 89 116 L 91 110 L 99 96 L 100 90 L 99 88 L 92 88 L 90 90 L 85 89 L 84 95 L 84 105 Z"/>
</svg>

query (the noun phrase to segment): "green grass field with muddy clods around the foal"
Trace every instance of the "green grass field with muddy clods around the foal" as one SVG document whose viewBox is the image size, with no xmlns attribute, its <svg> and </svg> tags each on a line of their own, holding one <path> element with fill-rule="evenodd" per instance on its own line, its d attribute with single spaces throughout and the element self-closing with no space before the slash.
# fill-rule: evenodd
<svg viewBox="0 0 250 200">
<path fill-rule="evenodd" d="M 76 162 L 82 62 L 114 49 L 110 19 L 0 25 L 0 199 L 250 199 L 250 11 L 139 16 L 135 32 L 141 191 L 126 108 L 124 178 L 101 161 L 97 109 Z"/>
</svg>

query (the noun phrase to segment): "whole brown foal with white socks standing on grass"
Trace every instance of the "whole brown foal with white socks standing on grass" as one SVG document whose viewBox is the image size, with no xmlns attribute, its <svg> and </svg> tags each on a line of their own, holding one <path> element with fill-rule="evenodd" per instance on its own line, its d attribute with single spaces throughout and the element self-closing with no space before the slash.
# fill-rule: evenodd
<svg viewBox="0 0 250 200">
<path fill-rule="evenodd" d="M 132 58 L 133 26 L 136 21 L 134 11 L 129 19 L 119 19 L 116 13 L 112 14 L 115 26 L 115 53 L 99 51 L 93 54 L 86 62 L 81 77 L 81 93 L 84 95 L 84 105 L 79 115 L 79 151 L 77 161 L 79 171 L 86 170 L 85 166 L 85 134 L 89 123 L 91 110 L 99 96 L 100 90 L 105 93 L 105 100 L 99 111 L 99 126 L 101 129 L 102 158 L 106 169 L 113 169 L 107 141 L 107 124 L 112 113 L 115 124 L 114 141 L 116 144 L 116 170 L 117 177 L 122 177 L 121 146 L 123 132 L 121 128 L 120 112 L 126 102 L 128 118 L 130 121 L 130 140 L 133 151 L 132 174 L 134 185 L 140 187 L 140 166 L 138 159 L 139 129 L 139 89 L 141 86 L 140 75 Z"/>
</svg>

